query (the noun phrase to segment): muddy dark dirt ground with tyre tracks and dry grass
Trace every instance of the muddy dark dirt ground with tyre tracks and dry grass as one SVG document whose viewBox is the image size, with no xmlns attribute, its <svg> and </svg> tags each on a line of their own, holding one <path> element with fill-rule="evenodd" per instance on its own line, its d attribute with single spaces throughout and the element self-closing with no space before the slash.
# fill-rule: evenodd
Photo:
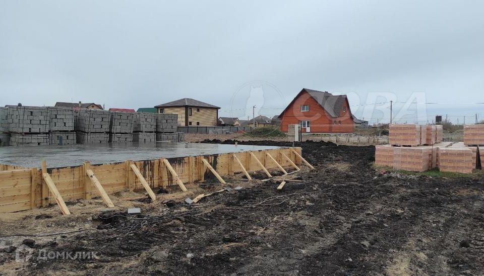
<svg viewBox="0 0 484 276">
<path fill-rule="evenodd" d="M 220 142 L 220 141 L 204 141 Z M 233 141 L 223 141 L 233 143 Z M 285 145 L 272 141 L 239 142 Z M 377 171 L 374 147 L 296 143 L 316 169 L 279 182 L 240 174 L 159 194 L 156 202 L 70 203 L 0 217 L 0 273 L 166 275 L 482 275 L 484 179 Z M 276 173 L 276 171 L 273 171 Z M 280 173 L 279 173 L 280 174 Z M 263 173 L 257 179 L 267 178 Z M 288 177 L 288 176 L 286 176 Z M 139 207 L 129 216 L 126 208 Z M 9 245 L 9 246 L 6 246 Z M 32 257 L 16 262 L 23 247 Z M 38 252 L 96 252 L 95 258 L 39 258 Z"/>
</svg>

